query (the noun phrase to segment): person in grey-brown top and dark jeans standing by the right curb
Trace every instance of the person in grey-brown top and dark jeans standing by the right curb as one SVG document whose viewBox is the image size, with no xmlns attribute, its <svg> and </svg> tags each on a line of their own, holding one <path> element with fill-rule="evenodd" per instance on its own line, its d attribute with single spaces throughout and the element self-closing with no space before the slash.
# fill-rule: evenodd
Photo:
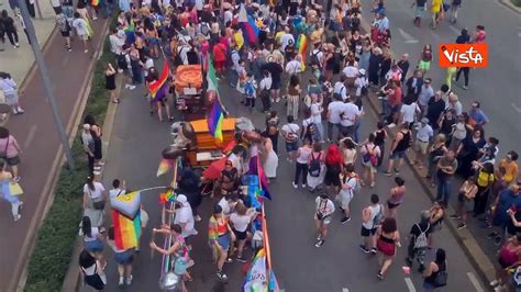
<svg viewBox="0 0 521 292">
<path fill-rule="evenodd" d="M 436 164 L 437 196 L 445 205 L 448 204 L 448 198 L 452 191 L 452 180 L 457 169 L 457 160 L 453 150 L 447 150 Z"/>
</svg>

